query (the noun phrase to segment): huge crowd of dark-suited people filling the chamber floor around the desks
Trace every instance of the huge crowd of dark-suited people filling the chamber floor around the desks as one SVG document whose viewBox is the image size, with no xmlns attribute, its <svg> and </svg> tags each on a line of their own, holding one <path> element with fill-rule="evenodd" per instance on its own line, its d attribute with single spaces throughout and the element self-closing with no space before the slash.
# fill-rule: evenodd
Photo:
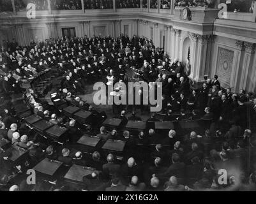
<svg viewBox="0 0 256 204">
<path fill-rule="evenodd" d="M 192 90 L 183 64 L 177 59 L 171 61 L 167 53 L 155 48 L 152 41 L 143 36 L 132 39 L 123 34 L 118 38 L 54 38 L 36 45 L 31 43 L 26 48 L 19 47 L 15 40 L 13 43 L 15 45 L 9 44 L 1 53 L 4 104 L 1 106 L 0 139 L 26 149 L 29 156 L 25 163 L 13 167 L 8 162 L 10 155 L 0 149 L 1 190 L 76 190 L 61 179 L 54 180 L 56 185 L 50 187 L 40 180 L 28 187 L 18 179 L 26 169 L 50 158 L 63 162 L 68 168 L 72 164 L 93 168 L 93 173 L 83 178 L 83 189 L 87 191 L 255 191 L 256 99 L 253 94 L 243 90 L 234 94 L 231 89 L 222 89 L 218 76 L 207 79 L 202 88 Z M 25 91 L 20 84 L 21 78 L 35 76 L 52 66 L 58 66 L 59 73 L 65 77 L 59 96 L 87 112 L 98 114 L 93 106 L 77 96 L 78 92 L 84 93 L 87 83 L 102 78 L 127 82 L 126 72 L 134 68 L 147 82 L 162 82 L 163 85 L 163 119 L 152 113 L 145 121 L 148 125 L 162 120 L 175 123 L 204 120 L 209 126 L 201 127 L 204 134 L 197 131 L 183 134 L 177 129 L 163 134 L 151 126 L 136 134 L 125 128 L 108 132 L 104 126 L 80 126 L 56 106 L 36 97 L 33 90 Z M 162 73 L 163 70 L 176 76 L 170 77 Z M 21 78 L 15 79 L 15 75 Z M 34 114 L 68 129 L 70 142 L 65 145 L 45 143 L 40 135 L 31 131 L 8 99 L 12 92 L 23 92 Z M 127 117 L 127 108 L 121 106 L 116 118 L 123 121 L 123 127 L 129 120 L 141 120 L 136 115 L 137 109 L 147 112 L 145 106 L 135 106 L 132 116 Z M 75 149 L 75 143 L 84 133 L 102 142 L 109 139 L 126 142 L 123 159 L 117 159 L 113 152 L 105 155 L 97 150 L 88 156 Z M 237 174 L 228 175 L 229 182 L 222 185 L 218 183 L 220 169 L 236 170 Z"/>
</svg>

